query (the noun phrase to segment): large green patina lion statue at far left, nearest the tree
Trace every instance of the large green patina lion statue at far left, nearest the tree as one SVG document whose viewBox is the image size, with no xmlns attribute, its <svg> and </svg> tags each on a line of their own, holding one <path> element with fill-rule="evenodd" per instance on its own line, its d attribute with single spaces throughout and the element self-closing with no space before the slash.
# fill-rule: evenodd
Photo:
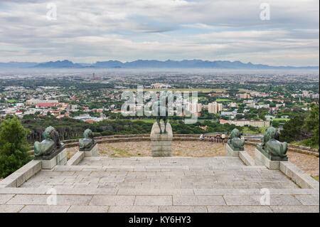
<svg viewBox="0 0 320 227">
<path fill-rule="evenodd" d="M 34 143 L 35 157 L 50 157 L 54 153 L 60 152 L 64 144 L 60 142 L 59 134 L 54 127 L 47 127 L 43 132 L 44 140 Z"/>
</svg>

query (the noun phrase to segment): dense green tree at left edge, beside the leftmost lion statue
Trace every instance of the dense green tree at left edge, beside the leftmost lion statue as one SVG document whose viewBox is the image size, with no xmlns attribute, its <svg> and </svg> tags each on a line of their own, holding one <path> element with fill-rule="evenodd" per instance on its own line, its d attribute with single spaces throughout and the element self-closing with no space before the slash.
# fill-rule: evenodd
<svg viewBox="0 0 320 227">
<path fill-rule="evenodd" d="M 17 117 L 6 117 L 0 125 L 0 177 L 6 177 L 30 161 L 26 130 Z"/>
</svg>

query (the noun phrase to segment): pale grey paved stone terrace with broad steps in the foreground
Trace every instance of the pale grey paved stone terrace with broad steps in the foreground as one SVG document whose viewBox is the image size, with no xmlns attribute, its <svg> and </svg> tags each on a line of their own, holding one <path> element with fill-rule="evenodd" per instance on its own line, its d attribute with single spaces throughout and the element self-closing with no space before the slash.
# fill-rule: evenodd
<svg viewBox="0 0 320 227">
<path fill-rule="evenodd" d="M 47 190 L 57 191 L 48 206 Z M 261 206 L 260 189 L 271 192 Z M 86 157 L 0 189 L 1 212 L 319 212 L 319 191 L 238 157 Z"/>
</svg>

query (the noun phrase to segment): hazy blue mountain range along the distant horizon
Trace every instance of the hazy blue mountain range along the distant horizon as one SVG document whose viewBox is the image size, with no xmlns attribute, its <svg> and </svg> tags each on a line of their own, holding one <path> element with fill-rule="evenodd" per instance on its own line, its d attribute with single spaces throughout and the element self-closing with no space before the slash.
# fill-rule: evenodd
<svg viewBox="0 0 320 227">
<path fill-rule="evenodd" d="M 247 70 L 275 70 L 275 69 L 305 69 L 319 70 L 319 66 L 272 66 L 241 61 L 229 60 L 134 60 L 122 63 L 119 60 L 98 61 L 97 63 L 73 63 L 70 60 L 50 61 L 46 63 L 0 63 L 0 68 L 217 68 L 217 69 L 247 69 Z"/>
</svg>

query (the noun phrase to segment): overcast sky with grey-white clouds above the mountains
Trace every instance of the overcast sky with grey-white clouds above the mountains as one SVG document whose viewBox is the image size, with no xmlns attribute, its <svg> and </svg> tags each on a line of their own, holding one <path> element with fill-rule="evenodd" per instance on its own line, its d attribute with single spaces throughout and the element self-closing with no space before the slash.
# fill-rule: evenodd
<svg viewBox="0 0 320 227">
<path fill-rule="evenodd" d="M 319 0 L 0 0 L 0 62 L 63 59 L 319 65 Z"/>
</svg>

